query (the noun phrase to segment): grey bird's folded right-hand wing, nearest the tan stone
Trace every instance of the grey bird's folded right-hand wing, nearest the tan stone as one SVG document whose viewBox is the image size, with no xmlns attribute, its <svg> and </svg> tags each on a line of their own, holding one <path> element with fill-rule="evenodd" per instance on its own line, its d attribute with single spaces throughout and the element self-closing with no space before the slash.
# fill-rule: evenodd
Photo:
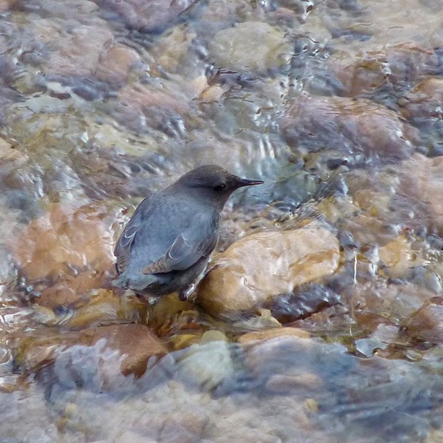
<svg viewBox="0 0 443 443">
<path fill-rule="evenodd" d="M 219 215 L 217 212 L 201 213 L 192 219 L 192 225 L 174 239 L 159 260 L 142 269 L 143 274 L 183 271 L 208 257 L 218 239 Z"/>
</svg>

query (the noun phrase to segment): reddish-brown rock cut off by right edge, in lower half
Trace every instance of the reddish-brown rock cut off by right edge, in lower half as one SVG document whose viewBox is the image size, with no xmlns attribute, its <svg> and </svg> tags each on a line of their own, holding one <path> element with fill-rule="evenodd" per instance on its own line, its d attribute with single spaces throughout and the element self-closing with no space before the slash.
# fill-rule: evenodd
<svg viewBox="0 0 443 443">
<path fill-rule="evenodd" d="M 405 332 L 419 340 L 431 343 L 443 342 L 443 298 L 433 297 L 424 302 L 403 323 Z"/>
</svg>

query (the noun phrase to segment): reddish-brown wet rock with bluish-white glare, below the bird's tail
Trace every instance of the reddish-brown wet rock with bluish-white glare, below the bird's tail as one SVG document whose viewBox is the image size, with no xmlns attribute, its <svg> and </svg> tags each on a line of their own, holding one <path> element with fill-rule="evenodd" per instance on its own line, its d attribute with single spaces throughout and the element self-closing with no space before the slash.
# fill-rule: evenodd
<svg viewBox="0 0 443 443">
<path fill-rule="evenodd" d="M 121 372 L 141 377 L 150 356 L 162 356 L 168 347 L 143 325 L 121 324 L 85 328 L 40 338 L 25 334 L 19 339 L 16 361 L 28 371 L 41 371 L 51 365 L 56 377 L 68 387 L 93 383 L 97 389 L 111 389 Z M 107 365 L 107 358 L 120 365 Z M 89 375 L 93 380 L 89 380 Z M 64 379 L 64 380 L 63 380 Z M 70 380 L 68 382 L 68 379 Z"/>
</svg>

